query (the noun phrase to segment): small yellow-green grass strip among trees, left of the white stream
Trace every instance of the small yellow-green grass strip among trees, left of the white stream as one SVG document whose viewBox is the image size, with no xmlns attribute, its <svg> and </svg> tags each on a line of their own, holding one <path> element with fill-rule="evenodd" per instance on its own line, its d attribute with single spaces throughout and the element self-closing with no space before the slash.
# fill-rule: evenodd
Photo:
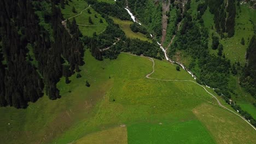
<svg viewBox="0 0 256 144">
<path fill-rule="evenodd" d="M 130 28 L 130 25 L 133 23 L 132 21 L 123 21 L 123 20 L 117 19 L 115 17 L 112 17 L 112 19 L 113 19 L 114 23 L 116 23 L 120 26 L 120 28 L 124 31 L 125 35 L 128 38 L 132 38 L 132 39 L 138 38 L 140 40 L 151 41 L 148 38 L 146 38 L 146 35 L 144 35 L 140 32 L 138 32 L 138 33 L 132 32 L 132 30 Z"/>
</svg>

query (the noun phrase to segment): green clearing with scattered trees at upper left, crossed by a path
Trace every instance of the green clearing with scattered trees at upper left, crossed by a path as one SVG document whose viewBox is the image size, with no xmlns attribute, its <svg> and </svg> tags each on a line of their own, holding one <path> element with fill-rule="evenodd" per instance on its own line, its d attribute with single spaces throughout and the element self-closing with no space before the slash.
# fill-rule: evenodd
<svg viewBox="0 0 256 144">
<path fill-rule="evenodd" d="M 75 7 L 75 10 L 77 11 L 77 13 L 72 12 L 72 7 Z M 62 14 L 65 19 L 68 19 L 69 17 L 80 14 L 82 10 L 88 7 L 89 5 L 85 1 L 75 0 L 73 2 L 69 2 L 69 5 L 66 5 L 65 9 L 62 9 Z M 89 9 L 91 11 L 91 14 L 89 14 L 86 9 L 83 11 L 81 15 L 75 17 L 75 20 L 77 21 L 77 24 L 79 25 L 79 29 L 83 35 L 92 36 L 94 32 L 96 32 L 96 34 L 100 34 L 106 29 L 108 24 L 101 17 L 101 15 L 98 14 L 94 9 L 92 9 L 91 7 Z M 97 15 L 97 18 L 95 17 L 95 15 Z M 92 19 L 93 25 L 89 23 L 89 16 Z M 103 23 L 100 23 L 100 19 L 102 19 Z M 69 21 L 72 21 L 72 19 Z"/>
</svg>

